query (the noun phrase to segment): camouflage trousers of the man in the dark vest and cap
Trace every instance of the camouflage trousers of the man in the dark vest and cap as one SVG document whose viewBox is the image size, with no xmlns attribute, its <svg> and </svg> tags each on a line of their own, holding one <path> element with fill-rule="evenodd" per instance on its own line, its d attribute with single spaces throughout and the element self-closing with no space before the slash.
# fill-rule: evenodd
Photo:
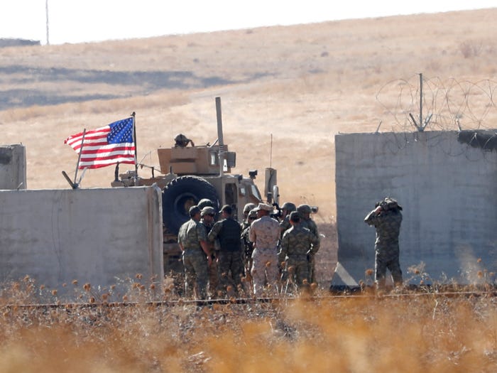
<svg viewBox="0 0 497 373">
<path fill-rule="evenodd" d="M 227 296 L 235 296 L 242 291 L 241 278 L 244 276 L 244 261 L 241 250 L 236 252 L 219 252 L 217 272 L 219 284 Z"/>
</svg>

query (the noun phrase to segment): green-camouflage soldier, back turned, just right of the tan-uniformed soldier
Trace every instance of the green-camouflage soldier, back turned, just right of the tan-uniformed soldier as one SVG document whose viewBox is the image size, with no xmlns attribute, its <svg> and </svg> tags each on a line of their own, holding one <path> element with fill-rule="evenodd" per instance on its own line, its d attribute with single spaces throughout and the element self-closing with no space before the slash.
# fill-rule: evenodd
<svg viewBox="0 0 497 373">
<path fill-rule="evenodd" d="M 319 247 L 317 237 L 309 229 L 300 225 L 300 215 L 293 211 L 290 214 L 292 227 L 285 231 L 281 239 L 281 249 L 278 253 L 280 263 L 285 262 L 290 281 L 298 288 L 308 288 L 309 263 L 307 256 L 312 255 L 312 249 Z"/>
</svg>

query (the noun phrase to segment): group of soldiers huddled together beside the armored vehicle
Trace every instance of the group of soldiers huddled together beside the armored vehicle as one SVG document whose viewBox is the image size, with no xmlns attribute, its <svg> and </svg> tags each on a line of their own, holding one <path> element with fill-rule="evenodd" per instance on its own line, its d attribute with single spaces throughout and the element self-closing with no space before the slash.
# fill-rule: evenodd
<svg viewBox="0 0 497 373">
<path fill-rule="evenodd" d="M 230 205 L 219 212 L 213 206 L 210 200 L 200 200 L 180 227 L 185 277 L 178 283 L 185 284 L 185 296 L 261 297 L 310 291 L 320 237 L 309 205 L 286 202 L 275 213 L 273 205 L 248 203 L 241 223 Z"/>
</svg>

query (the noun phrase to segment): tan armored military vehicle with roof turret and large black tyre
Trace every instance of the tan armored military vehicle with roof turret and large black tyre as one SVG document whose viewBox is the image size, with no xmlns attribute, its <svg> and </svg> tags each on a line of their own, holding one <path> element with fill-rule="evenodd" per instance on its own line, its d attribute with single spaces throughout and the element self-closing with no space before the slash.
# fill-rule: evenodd
<svg viewBox="0 0 497 373">
<path fill-rule="evenodd" d="M 244 205 L 253 202 L 278 203 L 278 187 L 276 170 L 266 168 L 264 197 L 258 190 L 254 180 L 258 172 L 250 171 L 249 176 L 231 173 L 236 166 L 236 153 L 229 151 L 224 144 L 221 100 L 216 97 L 217 140 L 212 145 L 195 146 L 185 135 L 175 138 L 174 146 L 158 148 L 158 159 L 161 175 L 155 175 L 151 168 L 151 178 L 137 176 L 135 171 L 119 175 L 116 166 L 113 187 L 130 187 L 134 185 L 158 185 L 163 190 L 163 228 L 165 266 L 171 258 L 178 254 L 177 236 L 180 226 L 190 219 L 188 210 L 193 205 L 207 198 L 219 211 L 223 205 L 230 205 L 234 217 L 239 222 L 244 218 Z M 190 144 L 190 146 L 188 146 Z M 167 268 L 166 268 L 167 269 Z"/>
</svg>

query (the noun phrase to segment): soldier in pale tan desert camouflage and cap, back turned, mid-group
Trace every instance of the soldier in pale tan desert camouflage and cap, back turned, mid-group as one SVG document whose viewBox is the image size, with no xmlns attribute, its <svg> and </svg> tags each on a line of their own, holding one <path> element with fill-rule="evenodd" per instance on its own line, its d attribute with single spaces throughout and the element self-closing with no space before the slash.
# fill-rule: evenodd
<svg viewBox="0 0 497 373">
<path fill-rule="evenodd" d="M 260 296 L 264 280 L 271 286 L 272 293 L 278 293 L 278 240 L 280 225 L 278 220 L 269 216 L 273 207 L 259 203 L 256 207 L 258 219 L 250 227 L 249 239 L 254 243 L 251 275 L 253 293 Z"/>
</svg>

